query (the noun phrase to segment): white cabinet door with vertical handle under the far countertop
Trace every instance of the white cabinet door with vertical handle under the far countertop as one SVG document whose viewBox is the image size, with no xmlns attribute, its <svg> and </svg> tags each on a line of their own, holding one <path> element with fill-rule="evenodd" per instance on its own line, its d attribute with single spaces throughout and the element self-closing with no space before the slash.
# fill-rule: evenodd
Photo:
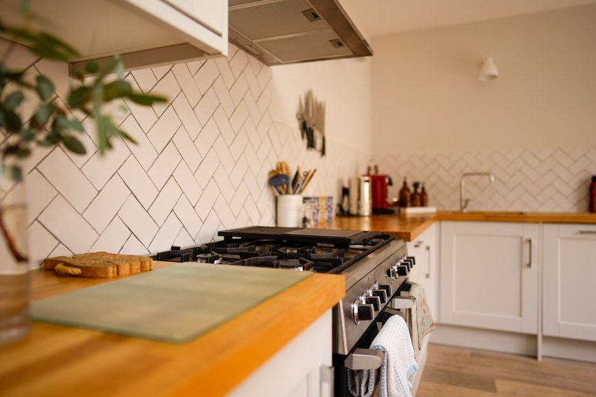
<svg viewBox="0 0 596 397">
<path fill-rule="evenodd" d="M 536 334 L 539 224 L 449 222 L 440 229 L 440 323 Z"/>
</svg>

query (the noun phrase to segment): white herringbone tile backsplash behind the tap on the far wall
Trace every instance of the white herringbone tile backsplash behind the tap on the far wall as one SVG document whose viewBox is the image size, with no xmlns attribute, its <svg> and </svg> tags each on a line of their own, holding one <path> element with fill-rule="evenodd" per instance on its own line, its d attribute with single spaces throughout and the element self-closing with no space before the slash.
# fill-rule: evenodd
<svg viewBox="0 0 596 397">
<path fill-rule="evenodd" d="M 459 209 L 463 172 L 490 171 L 487 178 L 466 179 L 469 209 L 503 211 L 587 211 L 590 176 L 596 175 L 596 148 L 525 149 L 393 155 L 379 161 L 393 178 L 397 196 L 404 176 L 424 181 L 429 204 Z"/>
</svg>

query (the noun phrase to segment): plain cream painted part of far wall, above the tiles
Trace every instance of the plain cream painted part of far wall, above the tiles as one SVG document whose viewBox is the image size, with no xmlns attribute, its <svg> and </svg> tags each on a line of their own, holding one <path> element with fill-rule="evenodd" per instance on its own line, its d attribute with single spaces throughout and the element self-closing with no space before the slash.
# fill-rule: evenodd
<svg viewBox="0 0 596 397">
<path fill-rule="evenodd" d="M 595 145 L 595 37 L 596 4 L 374 37 L 373 155 Z"/>
</svg>

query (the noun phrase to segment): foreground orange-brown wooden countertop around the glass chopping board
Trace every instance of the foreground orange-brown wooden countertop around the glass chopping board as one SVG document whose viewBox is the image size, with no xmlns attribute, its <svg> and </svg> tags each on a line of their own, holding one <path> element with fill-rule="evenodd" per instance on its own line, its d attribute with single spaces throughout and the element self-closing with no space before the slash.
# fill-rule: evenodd
<svg viewBox="0 0 596 397">
<path fill-rule="evenodd" d="M 170 265 L 154 261 L 154 269 Z M 110 281 L 57 277 L 41 269 L 31 274 L 33 300 Z M 0 347 L 0 394 L 223 395 L 344 294 L 344 276 L 312 274 L 182 344 L 33 321 L 24 340 Z"/>
</svg>

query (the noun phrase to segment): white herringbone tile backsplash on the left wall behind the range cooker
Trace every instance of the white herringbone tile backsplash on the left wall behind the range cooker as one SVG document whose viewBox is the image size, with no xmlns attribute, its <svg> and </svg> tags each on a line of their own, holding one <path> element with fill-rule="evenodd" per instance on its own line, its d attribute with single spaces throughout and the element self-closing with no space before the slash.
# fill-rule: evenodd
<svg viewBox="0 0 596 397">
<path fill-rule="evenodd" d="M 28 60 L 24 50 L 18 60 Z M 66 65 L 31 62 L 29 73 L 53 78 L 62 100 Z M 266 178 L 279 160 L 318 169 L 309 195 L 336 195 L 336 181 L 365 169 L 367 154 L 336 143 L 325 158 L 306 151 L 294 120 L 273 120 L 271 69 L 233 46 L 228 58 L 133 71 L 126 80 L 170 98 L 152 108 L 114 106 L 138 145 L 118 139 L 100 157 L 85 120 L 86 155 L 39 149 L 27 160 L 32 265 L 87 251 L 156 252 L 209 242 L 217 230 L 273 225 Z M 0 199 L 9 193 L 0 189 Z"/>
</svg>

